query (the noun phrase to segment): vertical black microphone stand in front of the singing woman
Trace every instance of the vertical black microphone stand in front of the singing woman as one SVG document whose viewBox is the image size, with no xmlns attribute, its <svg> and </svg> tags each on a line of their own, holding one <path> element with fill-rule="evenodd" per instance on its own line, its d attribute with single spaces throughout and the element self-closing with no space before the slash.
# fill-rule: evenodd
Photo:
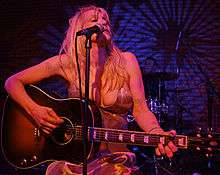
<svg viewBox="0 0 220 175">
<path fill-rule="evenodd" d="M 92 48 L 91 34 L 86 35 L 86 68 L 85 68 L 85 97 L 83 100 L 83 175 L 87 175 L 87 138 L 88 138 L 88 105 L 89 105 L 89 75 L 90 75 L 90 50 Z"/>
</svg>

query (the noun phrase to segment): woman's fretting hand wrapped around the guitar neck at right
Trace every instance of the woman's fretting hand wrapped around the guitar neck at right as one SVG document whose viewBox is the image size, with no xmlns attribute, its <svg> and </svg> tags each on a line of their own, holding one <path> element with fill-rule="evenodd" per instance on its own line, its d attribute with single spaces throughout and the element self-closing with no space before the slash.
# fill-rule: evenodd
<svg viewBox="0 0 220 175">
<path fill-rule="evenodd" d="M 176 136 L 176 131 L 171 130 L 164 133 L 160 133 L 164 135 Z M 166 155 L 168 158 L 173 157 L 173 154 L 177 151 L 177 147 L 174 145 L 172 141 L 170 141 L 167 145 L 163 145 L 162 143 L 158 144 L 158 147 L 155 149 L 157 156 Z"/>
</svg>

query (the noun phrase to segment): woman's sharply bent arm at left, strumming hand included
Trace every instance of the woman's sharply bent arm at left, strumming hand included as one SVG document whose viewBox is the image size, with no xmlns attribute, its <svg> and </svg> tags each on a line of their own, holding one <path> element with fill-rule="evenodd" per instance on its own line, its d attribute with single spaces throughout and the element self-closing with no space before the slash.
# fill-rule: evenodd
<svg viewBox="0 0 220 175">
<path fill-rule="evenodd" d="M 36 124 L 43 127 L 47 134 L 57 127 L 62 120 L 51 108 L 35 103 L 26 93 L 24 85 L 39 82 L 53 75 L 63 76 L 59 59 L 59 56 L 49 58 L 38 65 L 12 75 L 5 82 L 5 89 L 10 97 L 31 115 Z"/>
</svg>

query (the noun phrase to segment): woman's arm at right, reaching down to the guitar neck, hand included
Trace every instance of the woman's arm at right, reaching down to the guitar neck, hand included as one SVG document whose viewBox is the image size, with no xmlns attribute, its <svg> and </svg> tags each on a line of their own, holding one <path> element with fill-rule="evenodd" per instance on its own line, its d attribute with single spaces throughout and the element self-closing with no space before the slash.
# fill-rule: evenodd
<svg viewBox="0 0 220 175">
<path fill-rule="evenodd" d="M 142 75 L 136 57 L 129 52 L 126 52 L 124 56 L 126 59 L 126 69 L 130 78 L 130 90 L 134 101 L 133 115 L 137 124 L 141 129 L 150 134 L 175 135 L 175 131 L 164 132 L 155 115 L 149 110 L 145 101 Z M 172 142 L 169 142 L 165 147 L 159 144 L 156 148 L 157 155 L 166 154 L 168 157 L 172 157 L 173 152 L 176 151 L 177 148 Z"/>
</svg>

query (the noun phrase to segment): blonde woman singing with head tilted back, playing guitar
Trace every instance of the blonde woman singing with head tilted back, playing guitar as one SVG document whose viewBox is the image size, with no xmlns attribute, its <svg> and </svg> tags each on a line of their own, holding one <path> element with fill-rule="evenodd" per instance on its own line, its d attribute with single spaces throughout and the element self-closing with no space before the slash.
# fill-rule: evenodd
<svg viewBox="0 0 220 175">
<path fill-rule="evenodd" d="M 113 44 L 108 14 L 104 9 L 95 6 L 81 8 L 70 19 L 69 29 L 59 55 L 23 70 L 6 80 L 5 89 L 11 98 L 33 117 L 42 132 L 51 134 L 53 129 L 63 122 L 62 119 L 51 108 L 36 104 L 26 93 L 24 85 L 58 75 L 66 80 L 69 97 L 79 97 L 79 75 L 74 41 L 77 31 L 94 25 L 103 26 L 104 31 L 100 34 L 93 34 L 91 38 L 89 98 L 95 101 L 100 108 L 103 127 L 126 129 L 127 123 L 124 116 L 132 108 L 135 120 L 143 131 L 151 134 L 175 135 L 175 131 L 164 132 L 153 113 L 148 109 L 141 71 L 135 55 L 130 52 L 122 52 Z M 82 94 L 84 95 L 85 36 L 78 37 L 77 45 Z M 157 155 L 166 154 L 168 157 L 172 157 L 176 150 L 175 145 L 169 142 L 165 146 L 159 144 L 155 151 Z M 103 172 L 105 174 L 106 172 L 109 172 L 108 174 L 132 174 L 136 171 L 135 156 L 129 152 L 126 145 L 102 143 L 99 151 L 99 153 L 110 156 L 115 162 L 99 167 L 95 172 L 93 171 L 94 174 L 103 174 Z M 127 163 L 122 164 L 122 162 L 116 161 L 117 157 L 121 156 L 126 157 Z M 47 174 L 74 174 L 74 166 L 64 161 L 57 161 L 48 167 Z"/>
</svg>

